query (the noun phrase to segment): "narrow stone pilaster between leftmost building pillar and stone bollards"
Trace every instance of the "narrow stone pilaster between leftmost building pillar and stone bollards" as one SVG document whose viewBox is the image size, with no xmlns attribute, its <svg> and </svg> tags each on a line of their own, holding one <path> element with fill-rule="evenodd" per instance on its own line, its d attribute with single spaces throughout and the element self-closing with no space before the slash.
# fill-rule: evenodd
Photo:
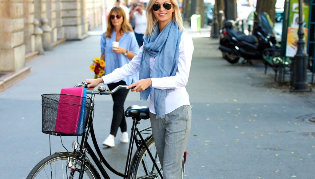
<svg viewBox="0 0 315 179">
<path fill-rule="evenodd" d="M 27 52 L 35 51 L 35 36 L 34 36 L 34 0 L 23 1 L 24 11 L 24 44 Z"/>
</svg>

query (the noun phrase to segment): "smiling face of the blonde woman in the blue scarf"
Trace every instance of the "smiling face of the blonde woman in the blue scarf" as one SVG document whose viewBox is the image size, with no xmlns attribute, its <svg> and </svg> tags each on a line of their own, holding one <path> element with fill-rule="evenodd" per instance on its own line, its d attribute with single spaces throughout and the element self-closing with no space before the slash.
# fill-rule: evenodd
<svg viewBox="0 0 315 179">
<path fill-rule="evenodd" d="M 168 23 L 170 20 L 172 20 L 172 14 L 174 12 L 174 6 L 172 5 L 172 8 L 167 10 L 163 7 L 164 3 L 170 3 L 172 4 L 170 1 L 165 1 L 165 0 L 156 0 L 154 4 L 160 4 L 161 7 L 160 9 L 158 9 L 157 11 L 153 11 L 153 14 L 155 16 L 155 18 L 157 18 L 157 20 L 159 21 L 159 23 L 161 22 L 165 22 Z"/>
</svg>

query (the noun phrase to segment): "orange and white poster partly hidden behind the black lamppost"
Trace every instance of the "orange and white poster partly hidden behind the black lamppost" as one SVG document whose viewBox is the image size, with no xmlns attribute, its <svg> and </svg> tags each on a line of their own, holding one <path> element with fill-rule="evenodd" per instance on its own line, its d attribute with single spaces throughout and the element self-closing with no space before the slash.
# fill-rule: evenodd
<svg viewBox="0 0 315 179">
<path fill-rule="evenodd" d="M 286 56 L 294 57 L 297 51 L 297 41 L 299 40 L 299 36 L 297 34 L 298 28 L 288 27 L 288 37 L 287 37 L 287 48 L 286 48 Z M 304 52 L 306 53 L 307 46 L 307 34 L 308 30 L 304 28 Z"/>
</svg>

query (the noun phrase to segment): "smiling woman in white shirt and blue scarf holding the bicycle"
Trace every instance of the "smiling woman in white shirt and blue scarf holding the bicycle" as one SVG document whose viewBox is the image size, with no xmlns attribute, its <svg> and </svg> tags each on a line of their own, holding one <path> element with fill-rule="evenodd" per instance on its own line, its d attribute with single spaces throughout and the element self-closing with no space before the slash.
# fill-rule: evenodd
<svg viewBox="0 0 315 179">
<path fill-rule="evenodd" d="M 89 89 L 140 72 L 140 80 L 129 85 L 150 95 L 152 133 L 163 169 L 163 179 L 182 178 L 181 162 L 191 129 L 191 107 L 186 84 L 192 61 L 192 38 L 186 33 L 176 0 L 150 0 L 146 8 L 144 44 L 132 61 L 90 83 Z"/>
</svg>

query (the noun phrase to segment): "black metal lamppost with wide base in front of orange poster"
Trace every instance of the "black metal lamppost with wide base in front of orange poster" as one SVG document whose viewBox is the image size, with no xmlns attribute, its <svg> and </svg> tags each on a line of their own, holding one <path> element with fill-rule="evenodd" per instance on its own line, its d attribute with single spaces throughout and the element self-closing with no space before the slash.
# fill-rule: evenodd
<svg viewBox="0 0 315 179">
<path fill-rule="evenodd" d="M 307 76 L 306 64 L 307 55 L 304 53 L 305 42 L 304 29 L 303 29 L 303 0 L 299 0 L 299 41 L 297 42 L 297 52 L 294 56 L 294 69 L 293 69 L 293 92 L 306 92 L 307 90 Z"/>
</svg>

